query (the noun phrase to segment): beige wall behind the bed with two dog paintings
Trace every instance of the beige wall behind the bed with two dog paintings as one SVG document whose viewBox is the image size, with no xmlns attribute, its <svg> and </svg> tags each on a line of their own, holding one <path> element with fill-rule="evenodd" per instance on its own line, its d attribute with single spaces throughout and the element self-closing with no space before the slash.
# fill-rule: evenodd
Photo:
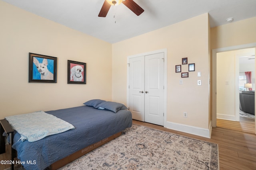
<svg viewBox="0 0 256 170">
<path fill-rule="evenodd" d="M 110 43 L 1 0 L 0 23 L 0 119 L 112 99 Z M 28 83 L 30 52 L 58 57 L 57 83 Z M 67 60 L 87 63 L 87 84 L 67 84 Z"/>
</svg>

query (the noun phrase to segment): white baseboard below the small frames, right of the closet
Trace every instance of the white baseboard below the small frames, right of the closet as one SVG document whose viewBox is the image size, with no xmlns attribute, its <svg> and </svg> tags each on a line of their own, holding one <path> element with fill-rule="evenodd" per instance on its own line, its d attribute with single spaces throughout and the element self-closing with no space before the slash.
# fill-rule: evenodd
<svg viewBox="0 0 256 170">
<path fill-rule="evenodd" d="M 165 127 L 168 129 L 175 130 L 175 131 L 190 133 L 192 135 L 197 135 L 197 136 L 206 137 L 206 138 L 211 138 L 211 133 L 212 133 L 212 123 L 211 122 L 209 125 L 209 129 L 184 125 L 184 124 L 180 124 L 180 123 L 174 123 L 174 122 L 170 122 L 170 121 L 166 122 Z"/>
</svg>

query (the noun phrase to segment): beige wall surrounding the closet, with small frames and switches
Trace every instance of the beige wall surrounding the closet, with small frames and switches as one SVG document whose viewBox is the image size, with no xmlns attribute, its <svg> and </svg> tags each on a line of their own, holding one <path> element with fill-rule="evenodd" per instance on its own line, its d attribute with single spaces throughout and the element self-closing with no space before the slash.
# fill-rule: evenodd
<svg viewBox="0 0 256 170">
<path fill-rule="evenodd" d="M 182 125 L 209 127 L 209 51 L 208 14 L 185 20 L 112 45 L 112 99 L 126 103 L 127 57 L 167 49 L 167 121 Z M 195 72 L 182 78 L 175 65 L 182 58 L 195 63 Z M 182 65 L 188 72 L 188 65 Z M 197 77 L 197 72 L 202 76 Z M 202 86 L 197 86 L 202 80 Z M 183 117 L 188 112 L 188 117 Z"/>
</svg>

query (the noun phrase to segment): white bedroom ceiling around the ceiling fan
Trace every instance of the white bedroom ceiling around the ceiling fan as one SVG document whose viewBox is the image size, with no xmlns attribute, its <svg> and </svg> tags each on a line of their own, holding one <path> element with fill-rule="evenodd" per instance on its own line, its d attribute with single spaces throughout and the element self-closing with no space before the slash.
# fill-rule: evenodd
<svg viewBox="0 0 256 170">
<path fill-rule="evenodd" d="M 106 18 L 98 17 L 104 0 L 3 1 L 109 43 L 207 12 L 210 27 L 226 24 L 226 19 L 230 17 L 235 22 L 256 16 L 256 0 L 134 0 L 144 9 L 140 16 L 120 4 L 115 9 L 111 6 Z"/>
</svg>

